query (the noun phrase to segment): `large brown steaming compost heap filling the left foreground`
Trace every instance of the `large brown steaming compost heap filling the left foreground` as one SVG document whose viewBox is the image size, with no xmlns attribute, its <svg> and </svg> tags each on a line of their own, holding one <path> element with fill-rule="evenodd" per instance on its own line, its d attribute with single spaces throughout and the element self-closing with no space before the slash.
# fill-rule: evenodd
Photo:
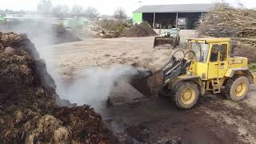
<svg viewBox="0 0 256 144">
<path fill-rule="evenodd" d="M 0 69 L 0 142 L 115 143 L 90 106 L 58 107 L 54 80 L 26 35 L 0 33 Z"/>
</svg>

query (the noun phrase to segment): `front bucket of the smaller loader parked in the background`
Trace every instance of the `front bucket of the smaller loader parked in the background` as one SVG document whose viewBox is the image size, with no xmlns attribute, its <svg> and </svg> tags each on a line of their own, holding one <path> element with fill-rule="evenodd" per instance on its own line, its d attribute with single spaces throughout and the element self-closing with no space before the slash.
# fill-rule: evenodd
<svg viewBox="0 0 256 144">
<path fill-rule="evenodd" d="M 164 37 L 155 37 L 154 38 L 154 48 L 156 47 L 175 47 L 174 38 L 164 38 Z"/>
</svg>

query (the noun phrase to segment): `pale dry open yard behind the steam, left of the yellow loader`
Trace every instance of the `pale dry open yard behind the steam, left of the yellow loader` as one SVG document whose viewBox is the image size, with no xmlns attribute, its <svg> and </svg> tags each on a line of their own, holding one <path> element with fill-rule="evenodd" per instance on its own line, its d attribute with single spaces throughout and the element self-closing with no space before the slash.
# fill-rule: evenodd
<svg viewBox="0 0 256 144">
<path fill-rule="evenodd" d="M 52 52 L 54 65 L 68 75 L 87 67 L 137 63 L 158 69 L 170 56 L 171 50 L 153 49 L 154 37 L 149 38 L 89 38 L 82 42 L 64 43 L 46 47 Z M 42 51 L 42 54 L 43 51 Z M 44 57 L 44 55 L 42 55 Z M 54 66 L 55 67 L 55 66 Z"/>
</svg>

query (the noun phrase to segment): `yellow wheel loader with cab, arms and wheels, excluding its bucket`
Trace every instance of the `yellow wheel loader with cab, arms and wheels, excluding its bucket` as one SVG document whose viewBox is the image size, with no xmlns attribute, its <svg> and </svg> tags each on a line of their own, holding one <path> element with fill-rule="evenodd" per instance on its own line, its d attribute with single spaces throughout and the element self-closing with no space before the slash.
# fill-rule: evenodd
<svg viewBox="0 0 256 144">
<path fill-rule="evenodd" d="M 234 102 L 246 97 L 255 78 L 247 58 L 233 56 L 230 38 L 192 38 L 187 44 L 187 50 L 177 50 L 158 71 L 162 75 L 160 94 L 170 96 L 182 109 L 192 108 L 207 91 L 222 93 Z M 178 52 L 182 58 L 175 56 Z"/>
</svg>

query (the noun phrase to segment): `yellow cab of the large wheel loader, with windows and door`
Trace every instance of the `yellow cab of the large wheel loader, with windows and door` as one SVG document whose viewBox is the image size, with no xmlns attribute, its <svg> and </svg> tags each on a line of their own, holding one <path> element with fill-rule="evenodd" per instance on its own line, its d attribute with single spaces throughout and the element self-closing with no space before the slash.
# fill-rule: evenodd
<svg viewBox="0 0 256 144">
<path fill-rule="evenodd" d="M 190 74 L 202 80 L 224 77 L 228 68 L 230 38 L 194 38 L 187 42 L 195 55 Z"/>
</svg>

